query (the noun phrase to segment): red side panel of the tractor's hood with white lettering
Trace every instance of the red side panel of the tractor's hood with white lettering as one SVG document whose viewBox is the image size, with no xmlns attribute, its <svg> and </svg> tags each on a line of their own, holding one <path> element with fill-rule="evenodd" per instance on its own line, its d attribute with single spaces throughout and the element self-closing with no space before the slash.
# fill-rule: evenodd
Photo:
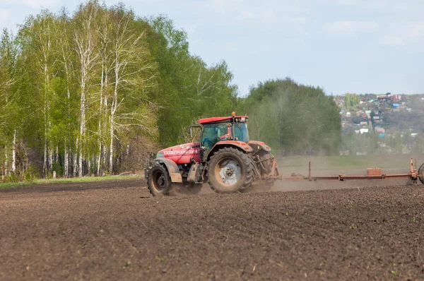
<svg viewBox="0 0 424 281">
<path fill-rule="evenodd" d="M 200 162 L 199 143 L 184 143 L 175 145 L 171 148 L 160 150 L 165 158 L 174 161 L 177 164 L 188 164 L 192 158 L 196 162 Z"/>
</svg>

